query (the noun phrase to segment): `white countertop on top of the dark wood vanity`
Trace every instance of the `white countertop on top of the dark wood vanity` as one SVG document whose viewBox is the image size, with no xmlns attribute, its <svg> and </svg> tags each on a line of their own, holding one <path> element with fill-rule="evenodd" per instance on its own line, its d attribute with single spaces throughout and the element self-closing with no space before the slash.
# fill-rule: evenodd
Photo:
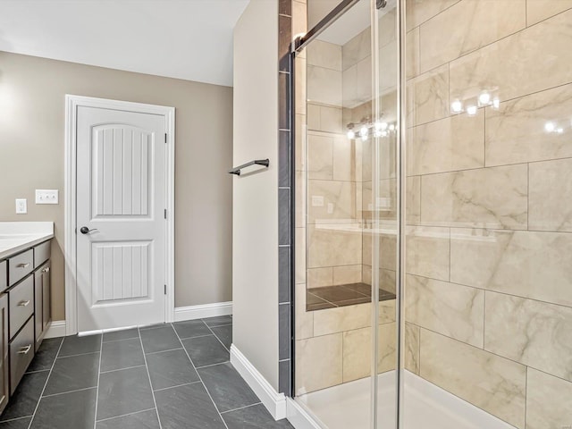
<svg viewBox="0 0 572 429">
<path fill-rule="evenodd" d="M 53 237 L 53 222 L 0 222 L 0 259 Z"/>
</svg>

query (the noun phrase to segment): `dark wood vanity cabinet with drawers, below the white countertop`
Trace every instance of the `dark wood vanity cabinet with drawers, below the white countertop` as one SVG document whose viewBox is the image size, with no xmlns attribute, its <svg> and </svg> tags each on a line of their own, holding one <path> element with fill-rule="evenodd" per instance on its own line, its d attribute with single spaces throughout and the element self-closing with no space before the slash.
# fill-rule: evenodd
<svg viewBox="0 0 572 429">
<path fill-rule="evenodd" d="M 0 261 L 0 413 L 51 321 L 50 240 Z"/>
</svg>

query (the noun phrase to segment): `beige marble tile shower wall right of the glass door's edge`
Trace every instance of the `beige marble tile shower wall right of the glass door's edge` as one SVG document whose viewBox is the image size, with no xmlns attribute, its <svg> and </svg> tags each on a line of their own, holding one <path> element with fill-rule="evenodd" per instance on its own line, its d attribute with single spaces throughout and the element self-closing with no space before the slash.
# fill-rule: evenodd
<svg viewBox="0 0 572 429">
<path fill-rule="evenodd" d="M 407 21 L 407 367 L 568 427 L 572 1 L 407 0 Z"/>
</svg>

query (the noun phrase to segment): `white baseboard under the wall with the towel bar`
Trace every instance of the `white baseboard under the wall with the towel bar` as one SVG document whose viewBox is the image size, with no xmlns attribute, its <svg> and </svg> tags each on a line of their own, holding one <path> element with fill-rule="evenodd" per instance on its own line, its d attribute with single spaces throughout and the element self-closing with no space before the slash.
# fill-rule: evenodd
<svg viewBox="0 0 572 429">
<path fill-rule="evenodd" d="M 260 398 L 274 420 L 286 418 L 286 397 L 278 393 L 255 366 L 245 357 L 234 344 L 231 344 L 231 364 Z"/>
</svg>

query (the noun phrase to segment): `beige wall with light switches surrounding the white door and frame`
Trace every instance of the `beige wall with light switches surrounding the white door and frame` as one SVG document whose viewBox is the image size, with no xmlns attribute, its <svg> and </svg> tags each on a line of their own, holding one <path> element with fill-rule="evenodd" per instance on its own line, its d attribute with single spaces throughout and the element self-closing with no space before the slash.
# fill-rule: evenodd
<svg viewBox="0 0 572 429">
<path fill-rule="evenodd" d="M 64 95 L 176 108 L 175 305 L 231 300 L 232 88 L 0 52 L 0 220 L 54 221 L 54 319 L 64 318 Z M 36 206 L 34 189 L 59 189 Z M 14 198 L 28 198 L 15 214 Z"/>
</svg>

